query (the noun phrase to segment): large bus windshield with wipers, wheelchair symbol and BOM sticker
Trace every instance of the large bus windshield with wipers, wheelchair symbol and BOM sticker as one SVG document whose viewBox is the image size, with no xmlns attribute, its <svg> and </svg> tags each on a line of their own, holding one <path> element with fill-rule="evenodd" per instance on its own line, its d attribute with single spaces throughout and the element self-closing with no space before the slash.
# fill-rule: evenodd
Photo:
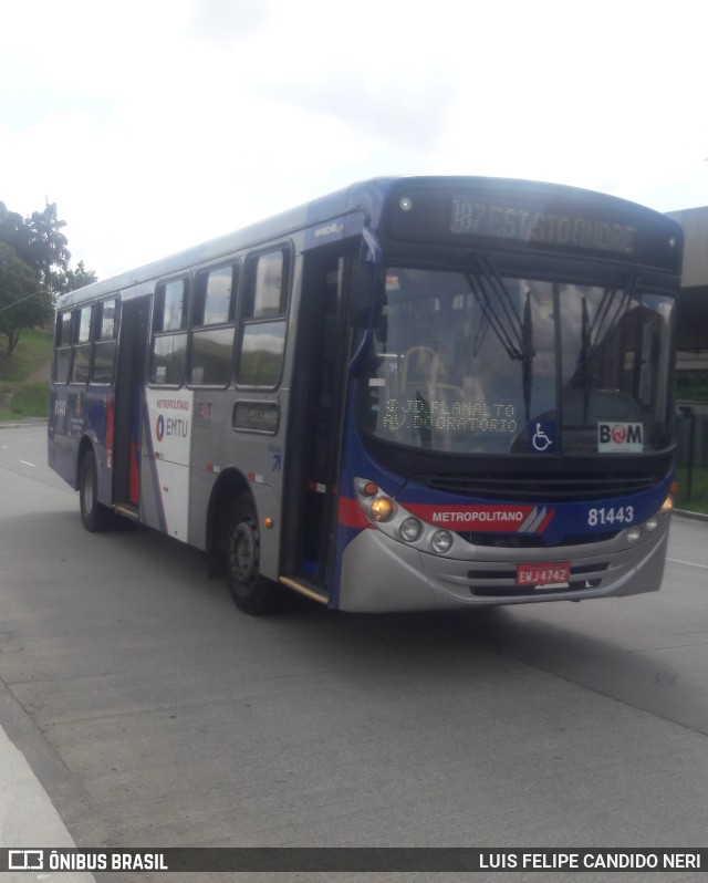
<svg viewBox="0 0 708 883">
<path fill-rule="evenodd" d="M 673 308 L 636 274 L 389 267 L 361 425 L 458 454 L 664 450 Z"/>
</svg>

